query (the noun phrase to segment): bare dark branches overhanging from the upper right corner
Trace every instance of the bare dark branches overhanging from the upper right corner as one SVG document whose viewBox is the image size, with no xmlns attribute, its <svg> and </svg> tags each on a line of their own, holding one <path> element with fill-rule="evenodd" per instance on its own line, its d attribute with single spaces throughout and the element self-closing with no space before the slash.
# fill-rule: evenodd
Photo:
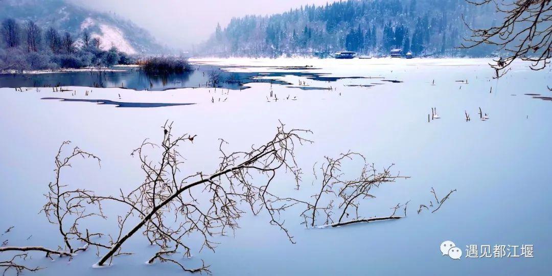
<svg viewBox="0 0 552 276">
<path fill-rule="evenodd" d="M 507 55 L 491 63 L 496 78 L 503 76 L 514 60 L 532 61 L 532 70 L 542 70 L 550 63 L 552 50 L 552 1 L 551 0 L 514 0 L 507 3 L 497 0 L 467 2 L 476 6 L 494 4 L 497 13 L 504 19 L 490 28 L 468 28 L 472 34 L 466 38 L 462 48 L 471 48 L 481 44 L 498 46 L 498 50 Z"/>
</svg>

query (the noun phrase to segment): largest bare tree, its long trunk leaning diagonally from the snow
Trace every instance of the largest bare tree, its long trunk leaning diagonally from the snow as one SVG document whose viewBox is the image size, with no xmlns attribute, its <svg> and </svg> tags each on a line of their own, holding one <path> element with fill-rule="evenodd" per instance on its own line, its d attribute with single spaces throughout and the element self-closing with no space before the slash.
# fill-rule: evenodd
<svg viewBox="0 0 552 276">
<path fill-rule="evenodd" d="M 282 124 L 274 138 L 266 144 L 232 153 L 224 150 L 227 143 L 220 140 L 220 163 L 213 172 L 181 176 L 184 159 L 178 148 L 185 142 L 193 142 L 196 136 L 173 136 L 172 126 L 167 123 L 162 130 L 161 144 L 145 140 L 132 152 L 133 156 L 140 159 L 141 169 L 145 174 L 144 182 L 130 192 L 124 193 L 121 190 L 116 196 L 100 196 L 62 183 L 62 172 L 71 167 L 74 158 L 92 158 L 99 162 L 98 157 L 78 147 L 68 155 L 63 155 L 63 148 L 69 144 L 64 142 L 55 158 L 56 178 L 49 185 L 47 203 L 43 210 L 48 220 L 59 227 L 63 246 L 59 250 L 43 247 L 0 247 L 0 252 L 42 251 L 72 257 L 75 252 L 94 246 L 101 256 L 96 265 L 107 266 L 114 257 L 128 254 L 121 248 L 131 236 L 141 233 L 151 245 L 158 248 L 148 259 L 148 263 L 169 262 L 187 272 L 209 273 L 209 266 L 203 261 L 198 268 L 187 268 L 171 256 L 179 251 L 184 256 L 191 256 L 191 248 L 183 238 L 189 235 L 203 238 L 199 251 L 214 251 L 216 242 L 212 238 L 237 229 L 238 219 L 245 213 L 242 206 L 246 206 L 253 214 L 268 214 L 270 224 L 279 227 L 293 242 L 280 213 L 297 201 L 278 197 L 270 192 L 270 187 L 277 174 L 283 171 L 291 173 L 296 182 L 300 181 L 301 172 L 295 163 L 294 149 L 296 144 L 310 142 L 301 137 L 310 131 L 285 130 Z M 150 151 L 158 154 L 156 161 L 150 160 L 150 156 L 153 156 Z M 201 197 L 198 197 L 199 194 Z M 107 201 L 128 208 L 126 213 L 117 217 L 119 230 L 115 233 L 100 233 L 82 229 L 79 222 L 83 220 L 92 217 L 107 219 L 102 211 L 102 204 Z M 81 246 L 77 243 L 81 243 Z M 12 264 L 12 268 L 18 266 L 20 265 Z"/>
</svg>

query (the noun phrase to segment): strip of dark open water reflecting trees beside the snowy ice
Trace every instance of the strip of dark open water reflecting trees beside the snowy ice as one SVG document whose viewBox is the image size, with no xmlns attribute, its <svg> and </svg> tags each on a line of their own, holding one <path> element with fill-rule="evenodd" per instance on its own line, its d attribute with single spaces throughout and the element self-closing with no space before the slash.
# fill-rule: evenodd
<svg viewBox="0 0 552 276">
<path fill-rule="evenodd" d="M 283 76 L 305 77 L 314 81 L 336 82 L 339 79 L 364 79 L 383 77 L 332 77 L 325 73 L 288 71 L 289 68 L 271 68 L 282 71 L 272 72 L 228 72 L 232 66 L 212 65 L 195 66 L 192 72 L 173 73 L 168 75 L 149 75 L 137 67 L 114 67 L 105 71 L 66 71 L 39 74 L 2 74 L 0 87 L 120 87 L 135 90 L 163 91 L 174 88 L 214 87 L 225 89 L 246 89 L 246 84 L 253 82 L 291 85 L 282 81 Z M 293 68 L 296 70 L 296 68 Z M 308 67 L 309 70 L 316 68 Z M 213 80 L 216 75 L 216 81 Z M 384 81 L 388 81 L 385 80 Z M 390 81 L 400 82 L 400 81 Z M 301 88 L 305 89 L 305 88 Z M 315 89 L 315 88 L 310 88 Z M 320 88 L 326 89 L 326 88 Z"/>
</svg>

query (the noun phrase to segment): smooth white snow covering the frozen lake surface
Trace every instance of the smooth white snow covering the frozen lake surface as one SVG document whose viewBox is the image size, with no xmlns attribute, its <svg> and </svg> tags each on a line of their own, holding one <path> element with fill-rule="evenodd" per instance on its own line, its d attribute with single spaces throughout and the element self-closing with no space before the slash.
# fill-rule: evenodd
<svg viewBox="0 0 552 276">
<path fill-rule="evenodd" d="M 203 258 L 214 275 L 549 273 L 552 101 L 526 95 L 552 97 L 546 88 L 550 85 L 548 68 L 535 72 L 519 62 L 497 81 L 491 78 L 493 71 L 486 59 L 193 61 L 243 66 L 232 70 L 251 72 L 309 65 L 320 69 L 307 71 L 331 74 L 328 76 L 374 78 L 331 83 L 297 76 L 281 78 L 293 87 L 301 81 L 309 87 L 332 90 L 269 83 L 251 83 L 252 88 L 242 91 L 63 87 L 75 92 L 52 92 L 51 88 L 16 92 L 0 88 L 0 230 L 15 226 L 0 240 L 8 239 L 12 246 L 62 244 L 55 225 L 48 224 L 44 214 L 37 214 L 45 203 L 43 194 L 54 176 L 54 156 L 62 141 L 71 140 L 102 158 L 101 168 L 89 161 L 76 162 L 64 176 L 66 183 L 116 194 L 141 183 L 139 161 L 130 152 L 146 137 L 162 139 L 160 126 L 166 120 L 174 121 L 176 133 L 198 135 L 194 144 L 185 145 L 182 151 L 189 172 L 209 172 L 216 167 L 218 138 L 230 142 L 229 149 L 243 150 L 270 139 L 280 120 L 290 128 L 312 130 L 309 138 L 315 142 L 297 151 L 305 171 L 301 190 L 294 190 L 284 177 L 277 180 L 278 192 L 292 197 L 313 194 L 319 183 L 308 173 L 312 165 L 324 156 L 353 150 L 379 167 L 395 163 L 395 172 L 411 177 L 382 185 L 375 199 L 361 205 L 362 214 L 388 215 L 391 206 L 411 200 L 408 216 L 338 229 L 305 229 L 300 225 L 300 210 L 290 210 L 286 226 L 297 242 L 293 245 L 268 224 L 266 216 L 246 215 L 235 236 L 217 238 L 222 243 L 215 253 L 195 252 L 184 263 L 194 266 Z M 270 97 L 271 89 L 278 100 Z M 86 91 L 91 92 L 85 95 Z M 45 97 L 195 104 L 118 108 L 41 99 Z M 437 108 L 440 119 L 428 123 L 432 107 Z M 489 120 L 479 119 L 479 108 Z M 470 114 L 468 122 L 465 112 Z M 351 178 L 356 176 L 356 165 L 344 168 Z M 416 214 L 418 205 L 433 200 L 432 187 L 440 197 L 451 189 L 457 192 L 436 213 Z M 113 222 L 98 222 L 94 227 L 113 229 L 109 223 Z M 464 250 L 460 260 L 442 256 L 439 246 L 446 240 Z M 192 238 L 190 243 L 194 242 Z M 534 258 L 465 258 L 468 245 L 534 245 Z M 171 264 L 145 266 L 155 248 L 148 247 L 141 237 L 132 238 L 126 251 L 135 254 L 116 258 L 113 267 L 106 269 L 92 268 L 98 261 L 93 250 L 80 253 L 70 263 L 66 258 L 51 262 L 34 254 L 28 264 L 47 267 L 37 275 L 182 273 Z"/>
</svg>

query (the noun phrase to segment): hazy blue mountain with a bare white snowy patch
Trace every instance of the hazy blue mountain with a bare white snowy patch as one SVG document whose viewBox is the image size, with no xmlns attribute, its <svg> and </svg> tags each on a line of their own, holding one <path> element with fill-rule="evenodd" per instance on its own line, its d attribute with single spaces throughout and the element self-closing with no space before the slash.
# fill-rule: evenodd
<svg viewBox="0 0 552 276">
<path fill-rule="evenodd" d="M 53 26 L 80 37 L 88 29 L 93 37 L 100 37 L 102 49 L 112 46 L 128 54 L 158 53 L 164 47 L 144 29 L 114 14 L 100 13 L 63 0 L 3 0 L 0 1 L 0 19 L 34 20 L 43 29 Z M 77 41 L 78 43 L 78 41 Z"/>
</svg>

